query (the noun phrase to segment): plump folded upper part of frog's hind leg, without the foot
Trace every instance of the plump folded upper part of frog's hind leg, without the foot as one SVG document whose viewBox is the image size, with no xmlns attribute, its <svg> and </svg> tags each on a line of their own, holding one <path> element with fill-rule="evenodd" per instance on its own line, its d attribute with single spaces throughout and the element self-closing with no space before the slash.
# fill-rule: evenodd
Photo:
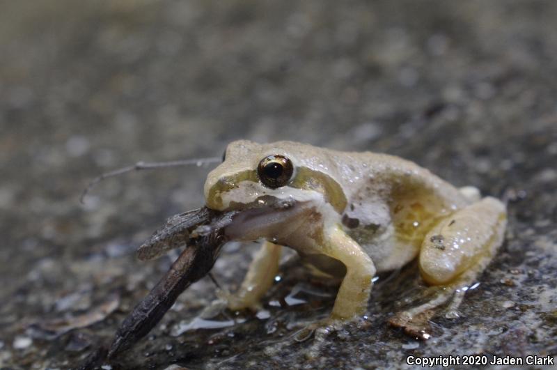
<svg viewBox="0 0 557 370">
<path fill-rule="evenodd" d="M 420 271 L 425 282 L 447 285 L 473 280 L 503 242 L 505 205 L 486 197 L 442 219 L 425 236 Z"/>
</svg>

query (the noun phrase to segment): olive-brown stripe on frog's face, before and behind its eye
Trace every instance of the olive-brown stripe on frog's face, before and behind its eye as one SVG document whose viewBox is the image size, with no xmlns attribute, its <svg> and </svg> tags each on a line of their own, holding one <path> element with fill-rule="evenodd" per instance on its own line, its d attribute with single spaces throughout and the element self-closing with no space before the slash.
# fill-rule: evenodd
<svg viewBox="0 0 557 370">
<path fill-rule="evenodd" d="M 221 194 L 232 190 L 237 186 L 236 184 L 242 181 L 253 181 L 254 183 L 258 183 L 259 178 L 257 176 L 257 171 L 240 171 L 233 176 L 221 178 L 211 187 L 207 196 L 209 199 L 212 199 L 214 206 L 220 209 L 223 206 Z M 298 167 L 295 178 L 288 186 L 301 190 L 320 192 L 323 194 L 325 201 L 331 204 L 338 213 L 343 213 L 346 208 L 347 200 L 342 187 L 340 187 L 331 176 L 320 171 L 308 169 L 307 167 Z"/>
</svg>

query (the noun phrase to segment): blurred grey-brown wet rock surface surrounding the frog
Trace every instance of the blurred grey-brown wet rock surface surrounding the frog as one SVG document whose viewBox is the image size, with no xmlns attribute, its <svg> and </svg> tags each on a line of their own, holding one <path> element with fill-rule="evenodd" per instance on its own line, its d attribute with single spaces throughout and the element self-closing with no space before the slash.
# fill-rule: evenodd
<svg viewBox="0 0 557 370">
<path fill-rule="evenodd" d="M 374 293 L 370 327 L 319 346 L 288 339 L 315 311 L 307 286 L 297 307 L 191 330 L 215 299 L 203 279 L 114 369 L 556 355 L 556 19 L 553 1 L 2 1 L 0 367 L 72 367 L 109 339 L 171 261 L 140 263 L 134 249 L 203 204 L 210 167 L 110 179 L 81 205 L 91 178 L 220 157 L 234 139 L 391 153 L 505 194 L 507 242 L 462 317 L 434 319 L 427 343 L 386 327 L 392 286 L 389 299 Z M 252 252 L 225 250 L 223 285 L 241 282 Z"/>
</svg>

